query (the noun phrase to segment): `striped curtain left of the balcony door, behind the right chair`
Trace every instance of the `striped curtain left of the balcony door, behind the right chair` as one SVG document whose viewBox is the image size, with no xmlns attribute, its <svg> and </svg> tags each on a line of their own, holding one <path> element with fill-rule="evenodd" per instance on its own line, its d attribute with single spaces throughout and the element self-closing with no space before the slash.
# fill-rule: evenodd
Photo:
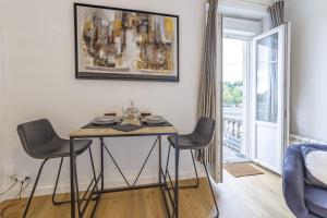
<svg viewBox="0 0 327 218">
<path fill-rule="evenodd" d="M 208 0 L 204 51 L 201 66 L 197 117 L 216 120 L 216 71 L 217 71 L 217 7 L 218 0 Z M 199 160 L 198 155 L 197 160 Z M 216 138 L 205 150 L 205 161 L 216 160 Z"/>
</svg>

